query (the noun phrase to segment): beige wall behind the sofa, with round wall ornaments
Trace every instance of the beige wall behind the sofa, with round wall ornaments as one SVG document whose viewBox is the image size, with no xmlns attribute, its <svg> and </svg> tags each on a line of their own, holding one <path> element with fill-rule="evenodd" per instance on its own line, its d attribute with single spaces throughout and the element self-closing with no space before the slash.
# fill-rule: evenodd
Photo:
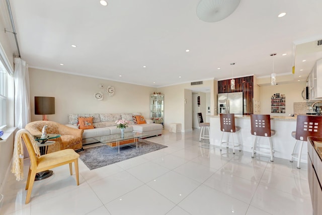
<svg viewBox="0 0 322 215">
<path fill-rule="evenodd" d="M 34 97 L 55 97 L 55 114 L 48 119 L 62 124 L 68 122 L 68 113 L 132 113 L 140 112 L 149 118 L 149 95 L 155 88 L 75 76 L 54 71 L 29 68 L 31 121 L 42 120 L 35 115 Z M 103 84 L 104 88 L 99 88 Z M 106 93 L 111 85 L 114 96 Z M 102 92 L 104 99 L 98 101 L 94 94 Z M 166 97 L 167 98 L 167 97 Z"/>
</svg>

